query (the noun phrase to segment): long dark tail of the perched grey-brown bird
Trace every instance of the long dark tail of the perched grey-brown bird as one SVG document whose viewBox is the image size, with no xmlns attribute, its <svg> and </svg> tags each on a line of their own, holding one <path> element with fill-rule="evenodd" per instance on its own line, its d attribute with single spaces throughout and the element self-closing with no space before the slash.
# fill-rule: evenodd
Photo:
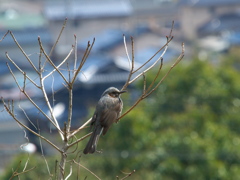
<svg viewBox="0 0 240 180">
<path fill-rule="evenodd" d="M 89 139 L 85 149 L 83 150 L 84 154 L 88 154 L 88 153 L 92 154 L 96 151 L 97 143 L 98 143 L 100 135 L 102 134 L 102 131 L 103 131 L 103 127 L 101 127 L 101 126 L 95 127 L 95 129 L 91 135 L 91 138 Z"/>
</svg>

